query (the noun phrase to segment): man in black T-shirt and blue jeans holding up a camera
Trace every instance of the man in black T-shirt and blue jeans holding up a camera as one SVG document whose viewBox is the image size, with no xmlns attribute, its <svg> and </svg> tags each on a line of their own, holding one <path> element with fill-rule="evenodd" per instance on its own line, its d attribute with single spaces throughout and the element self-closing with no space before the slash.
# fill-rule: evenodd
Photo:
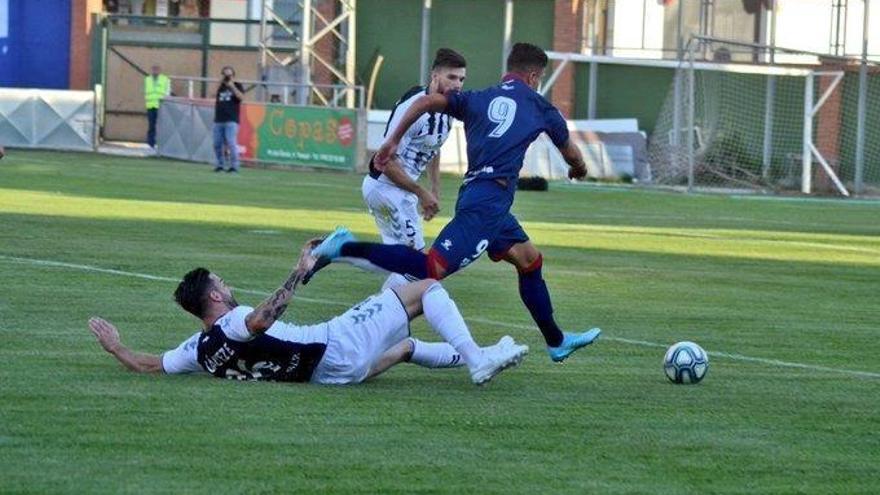
<svg viewBox="0 0 880 495">
<path fill-rule="evenodd" d="M 235 69 L 226 66 L 220 71 L 222 79 L 214 102 L 214 153 L 217 166 L 214 172 L 223 171 L 223 145 L 229 149 L 227 172 L 238 173 L 238 111 L 244 99 L 244 86 L 235 81 Z"/>
</svg>

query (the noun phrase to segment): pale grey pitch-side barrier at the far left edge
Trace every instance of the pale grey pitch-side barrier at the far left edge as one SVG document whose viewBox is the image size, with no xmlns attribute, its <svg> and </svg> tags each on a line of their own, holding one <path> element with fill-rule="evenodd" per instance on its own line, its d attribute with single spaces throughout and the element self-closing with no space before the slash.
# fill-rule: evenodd
<svg viewBox="0 0 880 495">
<path fill-rule="evenodd" d="M 20 148 L 93 151 L 98 91 L 0 91 L 0 143 Z"/>
</svg>

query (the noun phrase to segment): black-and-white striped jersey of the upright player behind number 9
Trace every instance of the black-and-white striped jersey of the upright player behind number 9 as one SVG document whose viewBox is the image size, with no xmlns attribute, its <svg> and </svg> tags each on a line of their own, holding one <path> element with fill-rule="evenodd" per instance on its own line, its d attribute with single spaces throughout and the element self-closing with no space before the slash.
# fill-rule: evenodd
<svg viewBox="0 0 880 495">
<path fill-rule="evenodd" d="M 385 125 L 384 137 L 387 138 L 394 131 L 410 105 L 426 94 L 428 89 L 424 86 L 415 86 L 404 93 L 391 111 L 391 117 Z M 449 137 L 452 120 L 449 115 L 429 112 L 419 117 L 419 120 L 406 131 L 397 147 L 397 155 L 401 166 L 412 180 L 419 180 L 431 160 L 440 153 L 440 148 Z M 371 175 L 382 182 L 393 184 L 384 175 L 379 176 L 375 171 Z"/>
</svg>

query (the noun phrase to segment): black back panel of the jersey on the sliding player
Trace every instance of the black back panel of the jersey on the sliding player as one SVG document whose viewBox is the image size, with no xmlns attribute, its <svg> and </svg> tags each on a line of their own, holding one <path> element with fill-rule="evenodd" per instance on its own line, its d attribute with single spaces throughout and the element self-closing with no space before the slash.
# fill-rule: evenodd
<svg viewBox="0 0 880 495">
<path fill-rule="evenodd" d="M 198 339 L 198 362 L 218 378 L 307 382 L 324 356 L 326 344 L 301 344 L 263 334 L 241 342 L 229 338 L 220 325 Z"/>
</svg>

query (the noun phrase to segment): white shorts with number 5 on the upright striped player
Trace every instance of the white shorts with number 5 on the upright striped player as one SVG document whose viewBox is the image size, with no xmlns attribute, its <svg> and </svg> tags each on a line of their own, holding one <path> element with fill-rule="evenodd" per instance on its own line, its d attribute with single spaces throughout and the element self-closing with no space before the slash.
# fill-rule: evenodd
<svg viewBox="0 0 880 495">
<path fill-rule="evenodd" d="M 382 242 L 403 244 L 413 249 L 425 247 L 419 198 L 403 189 L 370 177 L 364 177 L 361 191 L 370 209 Z"/>
</svg>

